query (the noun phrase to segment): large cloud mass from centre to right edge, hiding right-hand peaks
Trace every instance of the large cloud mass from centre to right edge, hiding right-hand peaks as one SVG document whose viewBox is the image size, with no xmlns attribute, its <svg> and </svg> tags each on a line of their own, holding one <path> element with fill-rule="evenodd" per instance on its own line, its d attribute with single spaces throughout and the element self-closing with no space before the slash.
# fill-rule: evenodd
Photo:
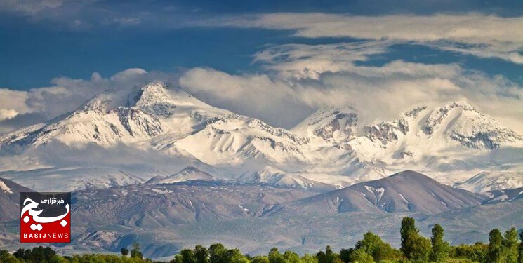
<svg viewBox="0 0 523 263">
<path fill-rule="evenodd" d="M 265 74 L 232 75 L 197 68 L 185 72 L 180 85 L 211 104 L 234 107 L 285 128 L 319 107 L 350 105 L 359 109 L 363 124 L 371 124 L 395 119 L 418 104 L 465 100 L 523 131 L 523 88 L 517 83 L 457 64 L 402 60 L 381 66 L 355 64 L 382 52 L 386 45 L 370 45 L 368 51 L 358 50 L 366 47 L 362 43 L 273 46 L 255 56 L 264 63 Z M 357 52 L 344 53 L 351 49 Z"/>
</svg>

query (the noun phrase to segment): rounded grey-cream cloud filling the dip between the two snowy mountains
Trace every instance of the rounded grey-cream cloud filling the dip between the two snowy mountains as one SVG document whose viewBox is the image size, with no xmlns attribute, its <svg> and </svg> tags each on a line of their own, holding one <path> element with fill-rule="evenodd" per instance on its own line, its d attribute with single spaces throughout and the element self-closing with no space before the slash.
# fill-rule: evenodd
<svg viewBox="0 0 523 263">
<path fill-rule="evenodd" d="M 215 69 L 194 68 L 185 72 L 179 83 L 213 106 L 253 116 L 273 126 L 288 128 L 312 111 L 299 100 L 296 90 L 289 86 L 291 83 L 272 79 L 267 74 L 231 75 Z"/>
</svg>

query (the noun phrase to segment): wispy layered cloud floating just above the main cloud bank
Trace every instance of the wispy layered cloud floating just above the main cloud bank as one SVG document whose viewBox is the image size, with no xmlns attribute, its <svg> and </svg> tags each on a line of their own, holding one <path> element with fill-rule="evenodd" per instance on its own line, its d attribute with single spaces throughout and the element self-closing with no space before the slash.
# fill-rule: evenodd
<svg viewBox="0 0 523 263">
<path fill-rule="evenodd" d="M 355 62 L 366 61 L 369 55 L 385 53 L 395 41 L 336 43 L 326 45 L 273 46 L 256 53 L 254 61 L 263 68 L 295 79 L 319 79 L 326 72 L 357 72 L 363 76 L 439 76 L 449 78 L 461 73 L 456 64 L 425 65 L 394 61 L 385 67 L 363 67 Z"/>
</svg>

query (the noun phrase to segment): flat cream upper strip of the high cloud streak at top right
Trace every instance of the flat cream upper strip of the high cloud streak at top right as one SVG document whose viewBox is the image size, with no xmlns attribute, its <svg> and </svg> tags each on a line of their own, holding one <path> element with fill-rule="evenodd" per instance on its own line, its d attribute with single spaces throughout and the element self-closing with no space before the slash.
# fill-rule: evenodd
<svg viewBox="0 0 523 263">
<path fill-rule="evenodd" d="M 523 42 L 522 34 L 514 34 L 523 30 L 523 18 L 501 18 L 494 15 L 353 16 L 276 13 L 260 15 L 243 25 L 296 29 L 296 35 L 310 38 L 352 36 L 376 40 L 387 38 L 412 41 L 450 39 L 464 43 Z"/>
</svg>

